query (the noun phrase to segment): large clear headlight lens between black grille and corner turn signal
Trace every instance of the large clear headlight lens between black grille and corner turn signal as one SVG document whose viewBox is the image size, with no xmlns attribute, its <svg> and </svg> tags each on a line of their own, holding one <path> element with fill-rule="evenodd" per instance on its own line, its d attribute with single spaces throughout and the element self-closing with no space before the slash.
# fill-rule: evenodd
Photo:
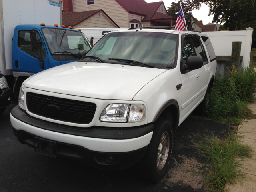
<svg viewBox="0 0 256 192">
<path fill-rule="evenodd" d="M 129 104 L 108 105 L 100 116 L 104 122 L 127 122 Z"/>
</svg>

